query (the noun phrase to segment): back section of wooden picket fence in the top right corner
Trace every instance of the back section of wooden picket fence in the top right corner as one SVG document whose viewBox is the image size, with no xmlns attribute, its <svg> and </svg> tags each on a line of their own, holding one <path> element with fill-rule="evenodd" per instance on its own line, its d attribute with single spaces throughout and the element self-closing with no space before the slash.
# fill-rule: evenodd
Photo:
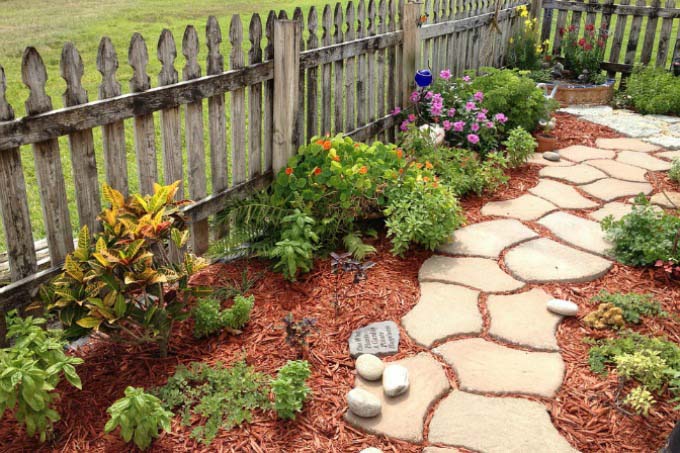
<svg viewBox="0 0 680 453">
<path fill-rule="evenodd" d="M 601 67 L 610 77 L 630 74 L 636 63 L 668 68 L 680 56 L 680 9 L 675 0 L 663 6 L 661 0 L 637 0 L 634 5 L 631 0 L 543 0 L 542 7 L 542 39 L 550 40 L 554 54 L 560 52 L 560 29 L 604 27 L 608 45 Z"/>
</svg>

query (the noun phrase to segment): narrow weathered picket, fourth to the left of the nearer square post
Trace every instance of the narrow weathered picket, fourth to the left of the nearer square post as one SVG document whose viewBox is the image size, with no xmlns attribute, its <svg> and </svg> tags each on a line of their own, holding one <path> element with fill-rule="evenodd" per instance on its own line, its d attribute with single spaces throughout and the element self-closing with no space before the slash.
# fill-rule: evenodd
<svg viewBox="0 0 680 453">
<path fill-rule="evenodd" d="M 208 18 L 205 27 L 208 45 L 207 73 L 221 74 L 224 71 L 224 57 L 220 53 L 222 30 L 215 16 Z M 227 166 L 227 123 L 224 93 L 208 98 L 208 127 L 210 129 L 210 168 L 213 193 L 229 187 Z"/>
</svg>

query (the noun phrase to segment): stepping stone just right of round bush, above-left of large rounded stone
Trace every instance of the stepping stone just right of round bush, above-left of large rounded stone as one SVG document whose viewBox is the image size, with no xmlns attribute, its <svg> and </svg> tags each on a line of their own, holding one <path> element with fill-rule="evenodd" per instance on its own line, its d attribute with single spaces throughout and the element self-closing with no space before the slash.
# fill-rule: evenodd
<svg viewBox="0 0 680 453">
<path fill-rule="evenodd" d="M 437 250 L 451 255 L 498 258 L 503 250 L 538 234 L 517 220 L 475 223 L 453 233 L 449 243 Z"/>
</svg>

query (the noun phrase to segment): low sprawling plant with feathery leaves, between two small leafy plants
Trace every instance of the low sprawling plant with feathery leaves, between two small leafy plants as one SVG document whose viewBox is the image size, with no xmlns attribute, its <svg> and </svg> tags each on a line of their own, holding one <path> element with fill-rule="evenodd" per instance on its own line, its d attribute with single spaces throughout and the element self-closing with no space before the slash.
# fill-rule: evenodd
<svg viewBox="0 0 680 453">
<path fill-rule="evenodd" d="M 166 409 L 177 409 L 182 424 L 200 419 L 191 437 L 209 444 L 219 429 L 249 422 L 255 409 L 268 409 L 269 377 L 240 360 L 227 367 L 192 362 L 179 366 L 167 384 L 154 390 Z"/>
</svg>

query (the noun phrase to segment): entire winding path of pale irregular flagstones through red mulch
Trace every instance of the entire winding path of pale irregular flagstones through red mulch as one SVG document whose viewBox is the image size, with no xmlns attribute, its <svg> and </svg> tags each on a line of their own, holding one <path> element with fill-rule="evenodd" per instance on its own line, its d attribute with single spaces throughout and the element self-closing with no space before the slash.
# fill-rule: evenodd
<svg viewBox="0 0 680 453">
<path fill-rule="evenodd" d="M 597 118 L 606 122 L 601 112 Z M 673 124 L 680 125 L 676 120 Z M 639 128 L 651 136 L 657 131 L 650 121 Z M 666 138 L 652 142 L 671 142 L 673 136 L 661 135 Z M 420 300 L 401 322 L 429 352 L 398 361 L 409 369 L 411 388 L 397 398 L 386 398 L 380 382 L 357 377 L 358 387 L 381 399 L 383 411 L 372 419 L 348 413 L 350 423 L 423 443 L 424 453 L 452 453 L 459 451 L 456 447 L 485 453 L 576 452 L 547 411 L 565 372 L 555 338 L 562 316 L 546 309 L 553 298 L 547 290 L 525 286 L 605 275 L 613 262 L 598 222 L 630 212 L 631 197 L 652 192 L 645 174 L 667 170 L 677 156 L 629 138 L 600 139 L 596 148 L 570 146 L 560 155 L 560 162 L 534 156 L 531 162 L 544 168 L 529 193 L 487 203 L 481 210 L 486 221 L 456 231 L 423 263 Z M 680 193 L 651 199 L 671 206 L 680 203 Z M 550 238 L 541 234 L 546 230 Z M 455 375 L 453 390 L 447 367 Z"/>
</svg>

